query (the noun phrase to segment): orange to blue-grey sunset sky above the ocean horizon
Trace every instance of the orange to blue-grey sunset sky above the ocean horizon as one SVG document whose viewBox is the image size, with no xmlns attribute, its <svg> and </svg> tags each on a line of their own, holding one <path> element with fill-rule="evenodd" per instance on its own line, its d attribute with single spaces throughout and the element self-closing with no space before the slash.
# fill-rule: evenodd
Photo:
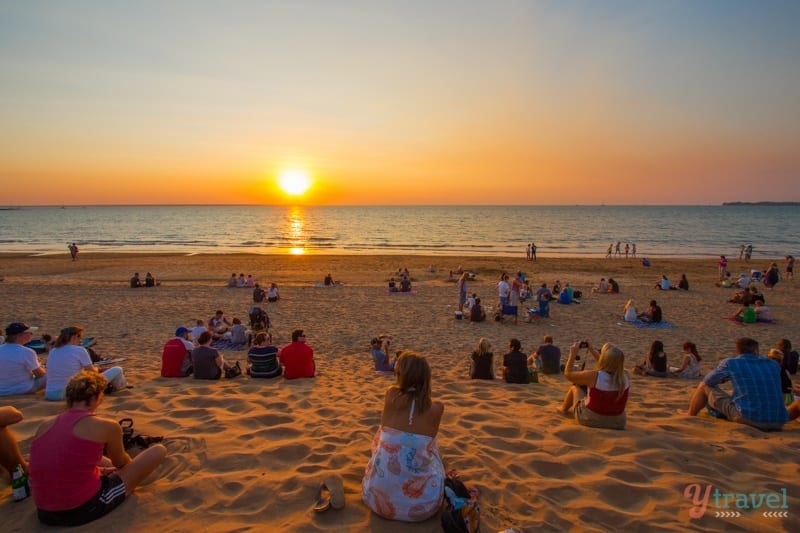
<svg viewBox="0 0 800 533">
<path fill-rule="evenodd" d="M 798 27 L 793 0 L 0 0 L 0 205 L 800 201 Z"/>
</svg>

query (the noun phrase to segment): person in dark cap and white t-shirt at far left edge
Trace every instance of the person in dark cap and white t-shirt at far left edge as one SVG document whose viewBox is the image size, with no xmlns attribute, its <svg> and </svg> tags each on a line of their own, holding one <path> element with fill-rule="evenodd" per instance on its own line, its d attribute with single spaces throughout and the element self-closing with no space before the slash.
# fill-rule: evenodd
<svg viewBox="0 0 800 533">
<path fill-rule="evenodd" d="M 36 392 L 47 383 L 36 352 L 24 346 L 32 336 L 33 328 L 22 322 L 6 327 L 6 342 L 0 345 L 0 396 Z"/>
</svg>

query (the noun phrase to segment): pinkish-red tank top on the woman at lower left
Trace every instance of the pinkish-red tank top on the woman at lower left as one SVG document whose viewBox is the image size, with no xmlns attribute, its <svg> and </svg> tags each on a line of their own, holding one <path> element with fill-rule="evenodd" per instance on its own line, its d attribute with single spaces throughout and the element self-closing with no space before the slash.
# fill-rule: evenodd
<svg viewBox="0 0 800 533">
<path fill-rule="evenodd" d="M 97 465 L 103 443 L 72 434 L 75 424 L 94 413 L 69 410 L 31 443 L 30 483 L 36 507 L 66 511 L 89 501 L 100 490 Z"/>
</svg>

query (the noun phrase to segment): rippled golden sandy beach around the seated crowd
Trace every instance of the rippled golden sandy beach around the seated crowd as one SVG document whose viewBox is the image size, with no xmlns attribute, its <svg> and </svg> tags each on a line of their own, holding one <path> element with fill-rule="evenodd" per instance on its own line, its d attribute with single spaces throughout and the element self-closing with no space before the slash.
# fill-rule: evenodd
<svg viewBox="0 0 800 533">
<path fill-rule="evenodd" d="M 736 275 L 765 269 L 767 261 L 731 260 Z M 436 272 L 429 272 L 433 265 Z M 470 323 L 455 320 L 458 295 L 448 271 L 459 265 L 477 274 L 469 283 L 484 303 L 497 300 L 501 272 L 525 271 L 532 285 L 555 280 L 583 292 L 579 305 L 551 304 L 551 318 Z M 779 262 L 783 269 L 783 262 Z M 386 282 L 408 268 L 415 294 L 389 294 Z M 130 289 L 134 271 L 152 272 L 162 285 Z M 220 382 L 166 379 L 159 375 L 163 344 L 179 325 L 208 319 L 216 309 L 247 322 L 251 291 L 229 289 L 232 272 L 275 282 L 282 299 L 264 303 L 275 342 L 283 345 L 295 327 L 306 330 L 316 354 L 313 380 L 255 380 L 241 376 Z M 331 273 L 343 285 L 313 284 Z M 659 291 L 666 274 L 673 283 L 685 273 L 691 290 Z M 438 518 L 417 524 L 383 520 L 361 501 L 361 478 L 378 427 L 383 393 L 391 377 L 375 375 L 369 340 L 394 336 L 396 349 L 426 355 L 433 369 L 433 394 L 445 404 L 439 433 L 446 467 L 456 468 L 480 490 L 482 531 L 699 531 L 800 530 L 797 449 L 800 423 L 763 433 L 702 414 L 681 416 L 696 381 L 631 376 L 623 431 L 589 429 L 555 412 L 568 382 L 541 376 L 540 383 L 509 385 L 468 378 L 469 354 L 478 339 L 494 346 L 495 365 L 512 337 L 530 353 L 545 333 L 566 351 L 589 338 L 612 342 L 625 352 L 626 367 L 643 359 L 650 343 L 665 344 L 670 365 L 681 360 L 691 340 L 708 372 L 733 355 L 741 336 L 758 340 L 762 353 L 788 338 L 800 344 L 800 282 L 784 280 L 763 289 L 777 320 L 741 325 L 725 320 L 737 306 L 732 291 L 714 286 L 716 260 L 657 259 L 649 268 L 638 260 L 424 257 L 140 255 L 83 253 L 69 256 L 0 255 L 0 322 L 23 321 L 38 333 L 55 334 L 80 325 L 97 340 L 104 357 L 124 357 L 132 389 L 106 398 L 100 414 L 132 417 L 135 428 L 163 435 L 169 455 L 156 476 L 103 519 L 81 531 L 441 531 Z M 592 294 L 601 277 L 615 278 L 621 294 Z M 621 320 L 634 298 L 644 310 L 656 299 L 670 329 L 638 329 Z M 225 351 L 246 360 L 246 351 Z M 566 355 L 566 354 L 565 354 Z M 63 405 L 42 395 L 2 399 L 25 419 L 12 430 L 27 454 L 38 425 Z M 315 513 L 321 479 L 344 480 L 346 506 Z M 734 498 L 712 495 L 705 514 L 691 518 L 687 486 L 708 485 L 720 494 L 778 494 L 786 509 L 736 508 Z M 690 489 L 691 490 L 691 489 Z M 11 501 L 8 480 L 0 480 L 0 515 L 5 531 L 38 531 L 31 499 Z M 749 498 L 749 496 L 748 496 Z M 763 503 L 763 499 L 762 499 Z M 738 511 L 739 516 L 716 516 Z M 786 517 L 764 511 L 788 511 Z"/>
</svg>

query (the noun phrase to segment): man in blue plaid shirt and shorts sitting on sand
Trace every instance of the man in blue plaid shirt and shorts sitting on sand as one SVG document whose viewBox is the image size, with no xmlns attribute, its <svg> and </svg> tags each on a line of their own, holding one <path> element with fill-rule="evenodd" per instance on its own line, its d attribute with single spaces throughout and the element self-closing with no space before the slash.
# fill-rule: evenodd
<svg viewBox="0 0 800 533">
<path fill-rule="evenodd" d="M 728 394 L 719 385 L 730 381 Z M 717 418 L 746 424 L 764 431 L 780 430 L 800 416 L 800 400 L 787 411 L 781 393 L 780 366 L 758 355 L 758 341 L 742 337 L 736 341 L 736 356 L 724 359 L 706 374 L 689 401 L 689 416 L 703 408 Z"/>
</svg>

